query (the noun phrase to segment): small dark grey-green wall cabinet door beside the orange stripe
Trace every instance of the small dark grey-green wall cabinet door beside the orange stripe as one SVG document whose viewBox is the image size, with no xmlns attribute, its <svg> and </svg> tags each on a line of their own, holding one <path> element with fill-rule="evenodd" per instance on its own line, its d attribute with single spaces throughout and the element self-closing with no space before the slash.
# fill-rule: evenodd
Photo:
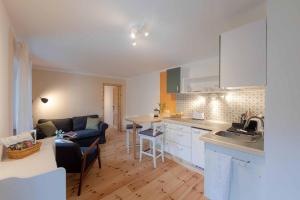
<svg viewBox="0 0 300 200">
<path fill-rule="evenodd" d="M 180 92 L 180 67 L 167 70 L 167 93 Z"/>
</svg>

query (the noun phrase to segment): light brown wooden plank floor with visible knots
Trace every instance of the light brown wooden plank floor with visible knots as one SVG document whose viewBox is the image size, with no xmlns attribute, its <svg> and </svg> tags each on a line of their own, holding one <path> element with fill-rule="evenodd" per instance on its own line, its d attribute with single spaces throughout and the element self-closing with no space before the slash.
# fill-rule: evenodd
<svg viewBox="0 0 300 200">
<path fill-rule="evenodd" d="M 107 143 L 101 145 L 102 168 L 94 164 L 85 178 L 81 196 L 77 197 L 79 175 L 67 175 L 67 199 L 153 199 L 204 200 L 203 176 L 170 159 L 157 162 L 143 157 L 140 163 L 127 154 L 125 134 L 107 131 Z"/>
</svg>

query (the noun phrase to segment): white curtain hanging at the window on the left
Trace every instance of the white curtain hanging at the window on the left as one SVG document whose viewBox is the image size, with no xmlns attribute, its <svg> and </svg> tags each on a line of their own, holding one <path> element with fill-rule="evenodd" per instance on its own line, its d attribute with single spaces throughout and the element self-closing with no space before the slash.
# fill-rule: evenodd
<svg viewBox="0 0 300 200">
<path fill-rule="evenodd" d="M 32 129 L 32 63 L 28 46 L 17 43 L 14 56 L 14 129 L 16 134 Z"/>
</svg>

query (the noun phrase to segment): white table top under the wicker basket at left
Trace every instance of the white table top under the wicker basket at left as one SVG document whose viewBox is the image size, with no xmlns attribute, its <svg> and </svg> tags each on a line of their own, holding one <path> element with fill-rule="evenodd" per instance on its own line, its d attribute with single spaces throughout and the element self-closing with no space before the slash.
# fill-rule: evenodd
<svg viewBox="0 0 300 200">
<path fill-rule="evenodd" d="M 4 159 L 0 161 L 0 180 L 17 177 L 27 178 L 57 169 L 55 160 L 55 137 L 39 140 L 40 151 L 23 159 Z"/>
</svg>

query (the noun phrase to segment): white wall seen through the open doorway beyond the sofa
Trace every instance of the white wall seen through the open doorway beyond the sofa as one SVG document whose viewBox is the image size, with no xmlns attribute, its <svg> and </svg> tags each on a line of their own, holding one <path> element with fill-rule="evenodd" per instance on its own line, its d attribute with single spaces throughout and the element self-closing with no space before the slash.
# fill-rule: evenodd
<svg viewBox="0 0 300 200">
<path fill-rule="evenodd" d="M 104 86 L 104 121 L 113 126 L 113 98 L 114 98 L 114 86 Z"/>
</svg>

